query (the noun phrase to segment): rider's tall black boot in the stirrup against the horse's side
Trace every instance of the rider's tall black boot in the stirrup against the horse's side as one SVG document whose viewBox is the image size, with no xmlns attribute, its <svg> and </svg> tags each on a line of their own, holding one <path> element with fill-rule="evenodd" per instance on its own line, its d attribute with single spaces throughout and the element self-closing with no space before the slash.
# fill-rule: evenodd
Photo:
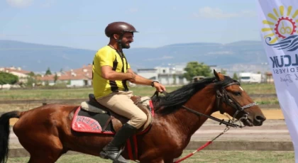
<svg viewBox="0 0 298 163">
<path fill-rule="evenodd" d="M 130 138 L 134 133 L 136 133 L 136 128 L 125 123 L 120 130 L 114 136 L 114 139 L 104 147 L 100 152 L 100 155 L 104 159 L 111 159 L 115 161 L 117 155 L 119 154 L 121 147 L 125 144 L 126 140 Z M 128 162 L 121 155 L 118 157 L 118 162 L 126 163 Z"/>
</svg>

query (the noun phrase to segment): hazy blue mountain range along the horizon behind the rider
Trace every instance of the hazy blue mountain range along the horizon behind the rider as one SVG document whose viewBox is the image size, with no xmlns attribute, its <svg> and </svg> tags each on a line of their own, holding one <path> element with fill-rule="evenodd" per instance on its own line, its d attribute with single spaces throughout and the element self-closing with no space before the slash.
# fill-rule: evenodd
<svg viewBox="0 0 298 163">
<path fill-rule="evenodd" d="M 268 69 L 267 57 L 260 41 L 180 43 L 156 48 L 131 47 L 123 51 L 135 70 L 191 61 L 217 65 L 228 71 Z M 0 40 L 0 67 L 21 67 L 33 72 L 45 72 L 48 67 L 52 71 L 77 69 L 92 64 L 95 53 L 96 50 Z"/>
</svg>

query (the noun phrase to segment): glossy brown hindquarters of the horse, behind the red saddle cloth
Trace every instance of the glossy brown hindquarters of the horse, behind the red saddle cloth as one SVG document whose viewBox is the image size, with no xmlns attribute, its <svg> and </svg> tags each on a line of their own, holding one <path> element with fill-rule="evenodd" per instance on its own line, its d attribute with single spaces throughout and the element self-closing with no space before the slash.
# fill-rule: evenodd
<svg viewBox="0 0 298 163">
<path fill-rule="evenodd" d="M 67 152 L 60 137 L 65 137 L 63 126 L 70 123 L 70 113 L 75 108 L 49 104 L 21 113 L 13 132 L 31 154 L 29 162 L 56 162 L 61 154 Z"/>
</svg>

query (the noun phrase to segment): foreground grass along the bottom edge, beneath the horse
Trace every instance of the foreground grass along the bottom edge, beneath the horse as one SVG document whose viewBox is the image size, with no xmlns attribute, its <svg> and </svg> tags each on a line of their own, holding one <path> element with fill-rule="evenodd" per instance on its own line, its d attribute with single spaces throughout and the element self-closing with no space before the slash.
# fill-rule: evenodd
<svg viewBox="0 0 298 163">
<path fill-rule="evenodd" d="M 189 154 L 192 151 L 184 151 L 184 155 Z M 16 162 L 28 162 L 28 157 L 25 158 L 9 158 L 8 163 Z M 85 154 L 65 155 L 58 159 L 57 163 L 81 163 L 81 162 L 100 162 L 111 163 L 106 159 L 94 157 Z M 203 150 L 197 152 L 192 157 L 185 159 L 182 163 L 194 163 L 194 162 L 253 162 L 253 163 L 286 163 L 294 162 L 294 152 L 282 152 L 282 151 L 208 151 Z"/>
</svg>

